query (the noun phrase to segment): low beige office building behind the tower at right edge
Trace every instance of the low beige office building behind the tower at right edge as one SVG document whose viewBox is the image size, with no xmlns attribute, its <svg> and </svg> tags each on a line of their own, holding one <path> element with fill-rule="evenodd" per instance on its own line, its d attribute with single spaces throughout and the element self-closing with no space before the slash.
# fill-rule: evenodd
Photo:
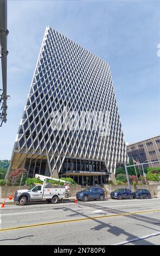
<svg viewBox="0 0 160 256">
<path fill-rule="evenodd" d="M 145 168 L 160 167 L 160 136 L 127 145 L 127 154 L 130 159 L 145 163 Z M 146 164 L 147 162 L 150 163 Z"/>
</svg>

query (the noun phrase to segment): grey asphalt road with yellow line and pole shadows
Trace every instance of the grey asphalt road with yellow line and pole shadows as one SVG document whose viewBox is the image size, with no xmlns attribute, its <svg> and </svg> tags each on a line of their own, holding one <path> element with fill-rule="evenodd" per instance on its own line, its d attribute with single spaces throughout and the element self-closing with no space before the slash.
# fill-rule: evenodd
<svg viewBox="0 0 160 256">
<path fill-rule="evenodd" d="M 0 245 L 160 245 L 160 198 L 6 205 Z"/>
</svg>

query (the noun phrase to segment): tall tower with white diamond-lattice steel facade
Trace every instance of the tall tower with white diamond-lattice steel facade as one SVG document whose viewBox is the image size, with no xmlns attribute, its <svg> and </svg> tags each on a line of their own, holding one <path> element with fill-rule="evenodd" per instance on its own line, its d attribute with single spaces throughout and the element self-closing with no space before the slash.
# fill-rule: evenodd
<svg viewBox="0 0 160 256">
<path fill-rule="evenodd" d="M 9 172 L 25 167 L 29 177 L 58 174 L 102 184 L 124 162 L 108 63 L 47 27 Z"/>
</svg>

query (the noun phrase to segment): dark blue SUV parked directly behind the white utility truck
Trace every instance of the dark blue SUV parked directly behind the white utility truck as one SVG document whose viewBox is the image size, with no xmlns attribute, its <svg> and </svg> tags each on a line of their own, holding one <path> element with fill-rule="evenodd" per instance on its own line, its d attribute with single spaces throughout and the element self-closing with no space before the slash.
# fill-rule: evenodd
<svg viewBox="0 0 160 256">
<path fill-rule="evenodd" d="M 78 200 L 87 202 L 88 200 L 104 200 L 104 190 L 101 187 L 87 187 L 76 194 Z"/>
</svg>

